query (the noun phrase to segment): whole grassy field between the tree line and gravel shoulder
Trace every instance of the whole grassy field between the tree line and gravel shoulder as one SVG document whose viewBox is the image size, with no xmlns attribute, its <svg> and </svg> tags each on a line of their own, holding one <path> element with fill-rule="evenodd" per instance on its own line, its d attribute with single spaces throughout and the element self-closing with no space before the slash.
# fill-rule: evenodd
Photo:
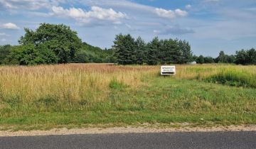
<svg viewBox="0 0 256 149">
<path fill-rule="evenodd" d="M 256 66 L 0 66 L 0 128 L 256 124 Z"/>
</svg>

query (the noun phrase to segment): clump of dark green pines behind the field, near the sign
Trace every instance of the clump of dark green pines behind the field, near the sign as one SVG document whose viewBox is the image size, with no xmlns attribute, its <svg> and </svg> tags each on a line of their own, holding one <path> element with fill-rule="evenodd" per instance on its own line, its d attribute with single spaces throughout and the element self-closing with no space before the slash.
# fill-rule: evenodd
<svg viewBox="0 0 256 149">
<path fill-rule="evenodd" d="M 186 40 L 154 38 L 149 43 L 139 37 L 136 40 L 131 35 L 119 34 L 114 40 L 115 55 L 121 65 L 146 63 L 183 64 L 192 58 L 191 47 Z"/>
</svg>

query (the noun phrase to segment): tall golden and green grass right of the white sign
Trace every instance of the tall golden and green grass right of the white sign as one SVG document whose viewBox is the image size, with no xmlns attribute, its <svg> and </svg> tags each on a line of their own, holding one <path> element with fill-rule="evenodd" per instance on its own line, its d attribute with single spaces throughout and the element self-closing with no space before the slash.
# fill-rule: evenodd
<svg viewBox="0 0 256 149">
<path fill-rule="evenodd" d="M 176 78 L 197 79 L 236 87 L 256 87 L 256 66 L 181 65 Z"/>
</svg>

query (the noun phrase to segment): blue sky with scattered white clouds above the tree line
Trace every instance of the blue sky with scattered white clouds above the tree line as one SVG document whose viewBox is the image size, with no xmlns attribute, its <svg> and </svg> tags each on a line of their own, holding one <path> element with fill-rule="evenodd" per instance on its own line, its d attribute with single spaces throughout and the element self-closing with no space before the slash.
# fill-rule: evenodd
<svg viewBox="0 0 256 149">
<path fill-rule="evenodd" d="M 0 0 L 0 45 L 40 23 L 63 23 L 100 48 L 119 33 L 188 40 L 193 54 L 213 57 L 256 48 L 255 0 Z"/>
</svg>

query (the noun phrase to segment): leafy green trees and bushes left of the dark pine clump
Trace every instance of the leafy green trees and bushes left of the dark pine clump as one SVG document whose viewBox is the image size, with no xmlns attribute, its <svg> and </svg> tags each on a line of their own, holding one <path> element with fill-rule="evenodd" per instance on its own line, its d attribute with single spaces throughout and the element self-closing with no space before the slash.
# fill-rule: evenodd
<svg viewBox="0 0 256 149">
<path fill-rule="evenodd" d="M 0 65 L 115 62 L 113 50 L 82 43 L 77 33 L 63 24 L 42 23 L 36 31 L 25 28 L 18 43 L 0 46 Z"/>
</svg>

